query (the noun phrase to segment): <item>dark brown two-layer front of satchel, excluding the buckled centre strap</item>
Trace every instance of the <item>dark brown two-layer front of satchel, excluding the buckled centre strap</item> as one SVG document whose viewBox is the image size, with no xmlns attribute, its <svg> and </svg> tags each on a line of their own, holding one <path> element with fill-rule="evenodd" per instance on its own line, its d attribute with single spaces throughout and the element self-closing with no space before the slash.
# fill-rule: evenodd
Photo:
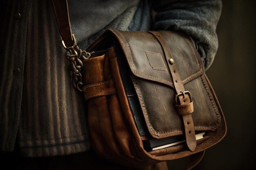
<svg viewBox="0 0 256 170">
<path fill-rule="evenodd" d="M 148 131 L 154 138 L 184 134 L 182 118 L 175 109 L 175 91 L 168 69 L 168 62 L 172 62 L 168 60 L 173 58 L 177 66 L 175 71 L 179 72 L 185 89 L 192 95 L 195 130 L 214 131 L 221 119 L 205 83 L 202 59 L 187 37 L 171 31 L 159 33 L 166 37 L 172 57 L 165 56 L 152 34 L 131 31 L 108 30 L 87 50 L 104 50 L 114 39 L 119 41 L 133 75 L 132 82 Z"/>
</svg>

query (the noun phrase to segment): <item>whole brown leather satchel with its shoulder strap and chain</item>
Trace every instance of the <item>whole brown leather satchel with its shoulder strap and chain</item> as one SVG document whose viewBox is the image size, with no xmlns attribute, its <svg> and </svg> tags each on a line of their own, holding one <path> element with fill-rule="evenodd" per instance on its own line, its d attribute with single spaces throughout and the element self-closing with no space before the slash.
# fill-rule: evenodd
<svg viewBox="0 0 256 170">
<path fill-rule="evenodd" d="M 67 2 L 53 5 L 97 155 L 130 167 L 193 155 L 193 167 L 223 139 L 224 115 L 188 37 L 107 30 L 82 51 Z"/>
</svg>

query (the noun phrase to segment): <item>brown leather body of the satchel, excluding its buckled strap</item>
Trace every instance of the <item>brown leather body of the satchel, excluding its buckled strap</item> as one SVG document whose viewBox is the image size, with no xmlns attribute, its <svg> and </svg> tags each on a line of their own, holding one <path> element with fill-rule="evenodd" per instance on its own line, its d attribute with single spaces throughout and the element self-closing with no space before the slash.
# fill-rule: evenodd
<svg viewBox="0 0 256 170">
<path fill-rule="evenodd" d="M 85 87 L 101 86 L 101 89 L 94 90 L 95 93 L 91 91 L 90 96 L 95 97 L 88 98 L 85 94 L 92 145 L 101 157 L 128 166 L 148 166 L 197 153 L 202 155 L 203 150 L 220 142 L 226 134 L 225 118 L 192 42 L 180 33 L 159 31 L 159 34 L 166 40 L 170 55 L 165 54 L 151 33 L 117 30 L 106 31 L 87 49 L 89 52 L 108 49 L 105 55 L 83 61 Z M 120 47 L 112 47 L 114 40 Z M 121 48 L 122 57 L 129 65 L 151 137 L 185 134 L 184 124 L 191 119 L 190 126 L 196 131 L 210 131 L 203 140 L 197 141 L 193 152 L 185 145 L 152 152 L 144 150 L 121 79 L 115 48 Z M 173 72 L 179 72 L 180 83 L 191 92 L 193 113 L 179 115 L 175 108 L 175 76 L 171 76 L 170 58 L 175 62 Z M 105 87 L 111 80 L 114 80 L 115 87 Z M 109 93 L 110 89 L 115 89 L 116 93 L 97 96 L 99 92 Z M 189 99 L 186 95 L 178 100 L 182 105 Z"/>
</svg>

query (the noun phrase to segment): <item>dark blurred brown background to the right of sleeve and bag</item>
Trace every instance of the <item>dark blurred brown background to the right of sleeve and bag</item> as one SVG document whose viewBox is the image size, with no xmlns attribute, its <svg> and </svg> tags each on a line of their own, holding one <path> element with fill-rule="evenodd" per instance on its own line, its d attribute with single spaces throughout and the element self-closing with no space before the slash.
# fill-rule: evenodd
<svg viewBox="0 0 256 170">
<path fill-rule="evenodd" d="M 222 0 L 219 49 L 207 70 L 227 121 L 227 135 L 208 149 L 195 170 L 256 169 L 256 3 Z M 176 170 L 170 165 L 170 170 Z"/>
</svg>

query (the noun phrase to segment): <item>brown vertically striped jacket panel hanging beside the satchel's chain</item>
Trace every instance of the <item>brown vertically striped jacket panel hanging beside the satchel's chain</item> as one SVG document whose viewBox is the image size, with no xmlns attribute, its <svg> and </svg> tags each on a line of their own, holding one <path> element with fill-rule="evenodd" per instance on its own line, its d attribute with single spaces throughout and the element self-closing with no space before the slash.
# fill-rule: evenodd
<svg viewBox="0 0 256 170">
<path fill-rule="evenodd" d="M 83 96 L 72 88 L 51 4 L 33 1 L 27 22 L 18 145 L 27 156 L 88 150 Z"/>
</svg>

